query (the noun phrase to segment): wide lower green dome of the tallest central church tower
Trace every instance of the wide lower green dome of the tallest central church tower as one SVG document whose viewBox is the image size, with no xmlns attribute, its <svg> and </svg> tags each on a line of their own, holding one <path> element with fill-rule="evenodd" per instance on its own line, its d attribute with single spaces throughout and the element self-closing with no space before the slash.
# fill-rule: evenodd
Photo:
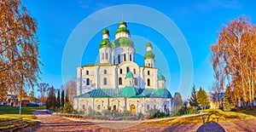
<svg viewBox="0 0 256 132">
<path fill-rule="evenodd" d="M 134 48 L 133 42 L 127 37 L 119 37 L 118 39 L 113 41 L 112 48 L 117 48 L 120 46 Z"/>
</svg>

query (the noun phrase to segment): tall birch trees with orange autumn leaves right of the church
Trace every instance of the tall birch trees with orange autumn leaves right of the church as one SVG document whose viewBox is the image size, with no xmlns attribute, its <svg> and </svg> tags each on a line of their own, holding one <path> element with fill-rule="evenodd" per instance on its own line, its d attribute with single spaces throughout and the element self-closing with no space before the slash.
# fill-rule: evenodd
<svg viewBox="0 0 256 132">
<path fill-rule="evenodd" d="M 237 102 L 253 107 L 256 89 L 256 26 L 247 17 L 232 20 L 211 45 L 214 77 L 229 87 Z"/>
</svg>

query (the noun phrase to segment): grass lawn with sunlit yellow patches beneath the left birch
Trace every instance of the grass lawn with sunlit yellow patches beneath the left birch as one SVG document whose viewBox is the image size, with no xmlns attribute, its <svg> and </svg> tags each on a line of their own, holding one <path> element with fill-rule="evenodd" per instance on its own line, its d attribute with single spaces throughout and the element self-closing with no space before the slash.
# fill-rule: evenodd
<svg viewBox="0 0 256 132">
<path fill-rule="evenodd" d="M 26 124 L 30 126 L 39 123 L 38 121 L 31 120 L 36 119 L 32 114 L 36 110 L 44 110 L 45 106 L 27 106 L 22 107 L 21 114 L 19 114 L 20 107 L 15 106 L 0 106 L 0 123 L 4 121 L 9 121 L 15 118 L 23 118 Z"/>
</svg>

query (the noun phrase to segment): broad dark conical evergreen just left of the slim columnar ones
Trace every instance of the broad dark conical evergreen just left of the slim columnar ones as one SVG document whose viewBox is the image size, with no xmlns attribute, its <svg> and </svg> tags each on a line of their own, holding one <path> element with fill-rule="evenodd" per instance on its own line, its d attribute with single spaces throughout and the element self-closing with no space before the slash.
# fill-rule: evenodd
<svg viewBox="0 0 256 132">
<path fill-rule="evenodd" d="M 56 103 L 55 89 L 52 86 L 51 88 L 49 88 L 49 95 L 46 100 L 46 108 L 55 110 L 56 106 L 57 106 L 57 103 Z"/>
</svg>

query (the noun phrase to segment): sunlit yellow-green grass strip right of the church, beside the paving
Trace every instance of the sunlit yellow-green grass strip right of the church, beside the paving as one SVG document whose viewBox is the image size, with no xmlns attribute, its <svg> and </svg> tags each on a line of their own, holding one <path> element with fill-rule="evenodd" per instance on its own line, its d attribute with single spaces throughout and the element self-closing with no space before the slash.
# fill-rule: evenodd
<svg viewBox="0 0 256 132">
<path fill-rule="evenodd" d="M 233 121 L 237 119 L 255 118 L 252 115 L 247 115 L 241 112 L 223 112 L 218 109 L 209 109 L 201 112 L 206 112 L 205 115 L 199 115 L 194 117 L 179 117 L 175 119 L 166 119 L 156 122 L 145 122 L 146 124 L 202 124 L 203 118 L 205 123 L 218 123 L 225 121 Z"/>
</svg>

